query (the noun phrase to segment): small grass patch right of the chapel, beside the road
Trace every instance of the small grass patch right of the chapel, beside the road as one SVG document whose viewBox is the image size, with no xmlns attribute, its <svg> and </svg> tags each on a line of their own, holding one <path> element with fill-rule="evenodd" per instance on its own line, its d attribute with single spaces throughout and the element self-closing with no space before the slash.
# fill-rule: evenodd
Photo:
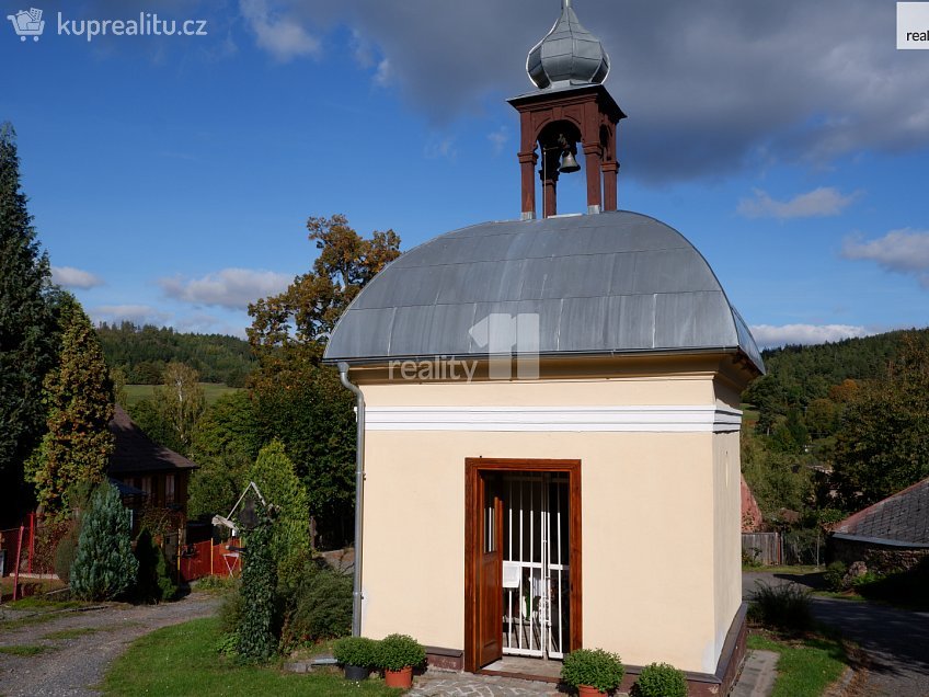
<svg viewBox="0 0 929 697">
<path fill-rule="evenodd" d="M 848 663 L 841 643 L 826 637 L 783 641 L 753 632 L 748 635 L 748 648 L 780 654 L 771 697 L 821 697 L 841 676 Z"/>
</svg>

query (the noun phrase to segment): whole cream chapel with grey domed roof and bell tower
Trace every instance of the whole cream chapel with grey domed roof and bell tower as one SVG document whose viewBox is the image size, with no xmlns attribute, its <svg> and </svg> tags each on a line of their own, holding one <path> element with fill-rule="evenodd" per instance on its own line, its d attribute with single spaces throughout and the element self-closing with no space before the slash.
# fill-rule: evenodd
<svg viewBox="0 0 929 697">
<path fill-rule="evenodd" d="M 746 631 L 739 396 L 761 356 L 700 252 L 619 209 L 626 114 L 570 0 L 527 72 L 518 219 L 403 253 L 325 348 L 358 414 L 353 632 L 542 678 L 600 647 L 621 689 L 666 662 L 695 697 L 726 694 Z M 586 212 L 559 215 L 575 173 Z"/>
</svg>

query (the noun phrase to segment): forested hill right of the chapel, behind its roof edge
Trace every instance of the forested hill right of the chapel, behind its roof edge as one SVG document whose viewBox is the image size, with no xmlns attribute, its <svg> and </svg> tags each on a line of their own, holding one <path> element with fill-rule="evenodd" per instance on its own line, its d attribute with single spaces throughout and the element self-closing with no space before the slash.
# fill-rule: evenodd
<svg viewBox="0 0 929 697">
<path fill-rule="evenodd" d="M 814 400 L 835 397 L 844 380 L 885 376 L 905 333 L 894 331 L 836 343 L 766 350 L 761 357 L 768 374 L 755 380 L 742 399 L 758 408 L 759 429 L 765 430 L 792 409 L 803 412 Z M 929 329 L 911 333 L 929 340 Z"/>
</svg>

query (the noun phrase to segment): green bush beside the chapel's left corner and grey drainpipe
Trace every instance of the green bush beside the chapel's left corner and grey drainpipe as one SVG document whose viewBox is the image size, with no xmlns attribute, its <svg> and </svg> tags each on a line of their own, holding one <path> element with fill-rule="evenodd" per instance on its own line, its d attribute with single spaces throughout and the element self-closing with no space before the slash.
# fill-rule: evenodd
<svg viewBox="0 0 929 697">
<path fill-rule="evenodd" d="M 280 584 L 284 627 L 280 644 L 291 647 L 344 637 L 352 630 L 352 578 L 324 562 L 306 559 L 301 572 Z"/>
</svg>

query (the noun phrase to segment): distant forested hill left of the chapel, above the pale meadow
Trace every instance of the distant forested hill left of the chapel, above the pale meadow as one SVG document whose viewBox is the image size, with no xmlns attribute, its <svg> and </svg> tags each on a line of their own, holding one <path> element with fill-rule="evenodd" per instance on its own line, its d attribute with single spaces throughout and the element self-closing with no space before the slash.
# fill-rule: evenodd
<svg viewBox="0 0 929 697">
<path fill-rule="evenodd" d="M 122 368 L 126 382 L 158 385 L 171 361 L 184 363 L 204 382 L 243 387 L 255 366 L 249 343 L 222 334 L 187 334 L 170 327 L 138 327 L 131 322 L 96 328 L 106 363 Z"/>
</svg>

